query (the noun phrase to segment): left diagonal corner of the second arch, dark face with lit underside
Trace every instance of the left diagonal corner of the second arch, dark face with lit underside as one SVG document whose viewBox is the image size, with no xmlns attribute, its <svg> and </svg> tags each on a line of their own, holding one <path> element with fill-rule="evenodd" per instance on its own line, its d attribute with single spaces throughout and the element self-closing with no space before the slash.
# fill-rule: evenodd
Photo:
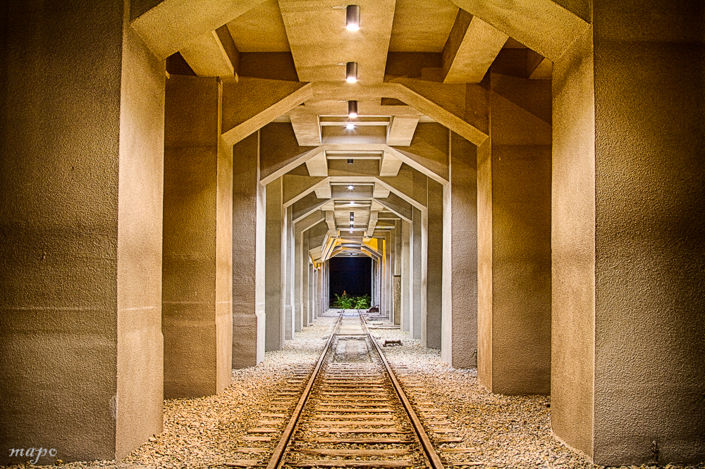
<svg viewBox="0 0 705 469">
<path fill-rule="evenodd" d="M 311 97 L 310 83 L 249 77 L 226 80 L 223 82 L 223 139 L 231 145 L 240 142 Z"/>
</svg>

